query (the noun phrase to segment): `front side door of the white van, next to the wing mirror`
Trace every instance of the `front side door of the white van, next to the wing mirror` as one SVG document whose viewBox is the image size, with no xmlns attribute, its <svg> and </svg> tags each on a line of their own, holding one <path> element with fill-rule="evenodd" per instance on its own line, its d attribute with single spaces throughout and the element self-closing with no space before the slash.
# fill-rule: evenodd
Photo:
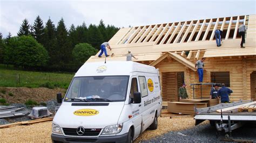
<svg viewBox="0 0 256 143">
<path fill-rule="evenodd" d="M 138 92 L 138 77 L 132 76 L 131 80 L 131 89 L 130 89 L 130 98 L 133 98 L 134 92 Z M 142 129 L 142 103 L 134 104 L 131 103 L 131 110 L 132 110 L 132 118 L 134 124 L 134 138 L 137 138 L 140 134 Z"/>
</svg>

